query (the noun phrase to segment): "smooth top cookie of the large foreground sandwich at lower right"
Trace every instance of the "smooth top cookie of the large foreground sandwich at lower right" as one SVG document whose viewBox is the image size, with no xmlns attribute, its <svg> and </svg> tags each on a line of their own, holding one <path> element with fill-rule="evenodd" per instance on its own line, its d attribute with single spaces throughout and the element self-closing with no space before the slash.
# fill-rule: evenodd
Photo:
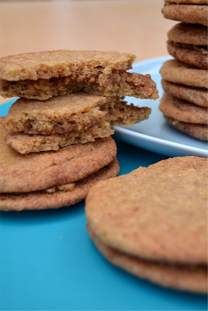
<svg viewBox="0 0 208 311">
<path fill-rule="evenodd" d="M 207 263 L 207 158 L 174 157 L 99 182 L 86 216 L 107 245 L 150 260 Z"/>
</svg>

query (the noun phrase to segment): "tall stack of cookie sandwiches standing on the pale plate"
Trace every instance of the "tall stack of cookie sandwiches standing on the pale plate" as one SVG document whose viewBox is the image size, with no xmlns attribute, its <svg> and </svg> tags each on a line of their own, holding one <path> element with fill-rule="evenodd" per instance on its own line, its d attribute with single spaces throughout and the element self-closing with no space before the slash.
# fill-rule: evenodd
<svg viewBox="0 0 208 311">
<path fill-rule="evenodd" d="M 160 70 L 167 122 L 194 138 L 208 140 L 208 0 L 165 0 L 163 16 L 180 21 L 168 32 L 175 59 Z"/>
</svg>

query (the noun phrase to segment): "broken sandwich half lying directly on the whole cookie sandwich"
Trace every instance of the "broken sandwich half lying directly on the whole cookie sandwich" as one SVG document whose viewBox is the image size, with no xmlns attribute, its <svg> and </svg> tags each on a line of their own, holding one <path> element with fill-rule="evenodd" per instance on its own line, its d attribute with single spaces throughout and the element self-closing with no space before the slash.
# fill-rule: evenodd
<svg viewBox="0 0 208 311">
<path fill-rule="evenodd" d="M 58 150 L 114 133 L 112 126 L 131 126 L 148 119 L 149 107 L 128 105 L 119 97 L 76 92 L 45 101 L 18 99 L 5 126 L 6 143 L 21 154 Z"/>
</svg>

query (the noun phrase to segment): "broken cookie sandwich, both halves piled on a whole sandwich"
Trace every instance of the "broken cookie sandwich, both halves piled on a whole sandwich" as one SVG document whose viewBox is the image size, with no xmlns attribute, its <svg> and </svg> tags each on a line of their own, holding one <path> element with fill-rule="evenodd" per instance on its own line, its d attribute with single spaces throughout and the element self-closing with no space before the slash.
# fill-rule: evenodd
<svg viewBox="0 0 208 311">
<path fill-rule="evenodd" d="M 6 143 L 22 154 L 57 150 L 109 137 L 113 125 L 148 119 L 150 108 L 121 101 L 126 95 L 158 98 L 149 74 L 126 72 L 134 58 L 128 53 L 67 50 L 2 57 L 1 96 L 23 97 L 5 119 Z"/>
</svg>

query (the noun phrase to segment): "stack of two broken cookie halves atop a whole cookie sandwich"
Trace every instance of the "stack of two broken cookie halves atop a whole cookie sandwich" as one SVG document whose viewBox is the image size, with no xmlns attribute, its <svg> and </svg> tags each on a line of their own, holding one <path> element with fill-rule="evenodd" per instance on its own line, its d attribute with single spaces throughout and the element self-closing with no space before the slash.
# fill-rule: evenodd
<svg viewBox="0 0 208 311">
<path fill-rule="evenodd" d="M 112 126 L 151 113 L 124 96 L 158 98 L 149 74 L 126 72 L 134 58 L 60 50 L 0 59 L 0 94 L 20 96 L 0 121 L 1 209 L 67 206 L 119 173 Z"/>
</svg>

